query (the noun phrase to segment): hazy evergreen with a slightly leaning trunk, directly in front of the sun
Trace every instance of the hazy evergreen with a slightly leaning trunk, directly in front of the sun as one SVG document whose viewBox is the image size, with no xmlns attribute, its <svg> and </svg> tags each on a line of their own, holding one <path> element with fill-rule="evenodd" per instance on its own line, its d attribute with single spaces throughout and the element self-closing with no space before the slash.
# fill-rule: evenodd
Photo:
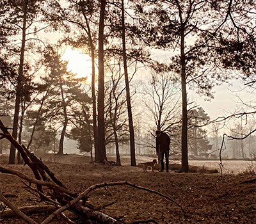
<svg viewBox="0 0 256 224">
<path fill-rule="evenodd" d="M 61 61 L 60 54 L 50 48 L 45 52 L 45 66 L 49 69 L 49 77 L 45 81 L 54 88 L 51 88 L 47 99 L 47 110 L 44 119 L 55 120 L 55 123 L 61 124 L 62 130 L 60 135 L 60 144 L 58 154 L 63 154 L 63 143 L 67 125 L 70 120 L 70 110 L 76 103 L 76 96 L 79 88 L 85 78 L 76 79 L 75 74 L 68 72 L 67 62 Z M 88 100 L 88 99 L 86 99 Z M 75 106 L 74 106 L 75 107 Z"/>
</svg>

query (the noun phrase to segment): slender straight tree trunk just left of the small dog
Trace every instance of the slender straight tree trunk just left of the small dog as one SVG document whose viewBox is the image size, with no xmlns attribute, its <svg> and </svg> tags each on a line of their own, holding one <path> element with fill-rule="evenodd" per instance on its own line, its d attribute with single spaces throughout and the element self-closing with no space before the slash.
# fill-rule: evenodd
<svg viewBox="0 0 256 224">
<path fill-rule="evenodd" d="M 131 107 L 131 97 L 130 97 L 129 77 L 128 77 L 128 70 L 127 70 L 127 57 L 126 57 L 126 47 L 125 47 L 124 0 L 122 0 L 122 42 L 123 42 L 123 59 L 124 59 L 124 75 L 125 75 L 125 86 L 126 86 L 126 100 L 127 100 L 129 131 L 130 131 L 131 166 L 136 166 L 134 128 L 133 128 L 133 122 L 132 122 L 132 107 Z"/>
</svg>

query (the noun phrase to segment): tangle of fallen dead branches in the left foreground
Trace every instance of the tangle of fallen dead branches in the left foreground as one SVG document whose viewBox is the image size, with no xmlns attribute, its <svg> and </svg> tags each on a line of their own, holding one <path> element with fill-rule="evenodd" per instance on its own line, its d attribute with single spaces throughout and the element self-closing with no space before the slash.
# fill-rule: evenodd
<svg viewBox="0 0 256 224">
<path fill-rule="evenodd" d="M 54 176 L 54 173 L 52 173 L 51 170 L 42 161 L 40 161 L 34 154 L 29 152 L 29 150 L 24 145 L 20 145 L 12 137 L 12 135 L 8 132 L 8 129 L 4 126 L 1 119 L 0 129 L 3 132 L 1 133 L 1 136 L 9 140 L 13 144 L 13 146 L 17 148 L 22 156 L 22 159 L 24 159 L 25 164 L 28 164 L 29 168 L 31 168 L 35 178 L 29 177 L 28 175 L 25 175 L 24 173 L 18 172 L 16 170 L 10 170 L 4 167 L 0 167 L 0 172 L 15 175 L 17 177 L 20 177 L 20 179 L 22 180 L 28 181 L 29 184 L 25 185 L 29 189 L 35 191 L 35 193 L 38 194 L 38 197 L 40 197 L 42 201 L 50 202 L 51 204 L 54 204 L 54 206 L 58 207 L 58 209 L 52 212 L 52 214 L 48 216 L 41 224 L 50 223 L 58 215 L 62 216 L 62 218 L 68 221 L 68 223 L 74 223 L 67 216 L 63 215 L 63 212 L 67 209 L 77 214 L 77 216 L 85 217 L 88 220 L 96 220 L 99 223 L 122 224 L 122 222 L 115 220 L 115 218 L 108 216 L 108 214 L 104 214 L 100 211 L 92 209 L 92 207 L 90 207 L 90 205 L 86 202 L 88 194 L 90 192 L 92 192 L 94 189 L 104 188 L 106 186 L 127 185 L 131 186 L 132 188 L 142 189 L 150 193 L 155 193 L 159 196 L 167 198 L 168 200 L 171 200 L 173 203 L 178 205 L 180 209 L 182 209 L 182 212 L 184 212 L 184 209 L 172 198 L 163 195 L 158 191 L 143 188 L 141 186 L 136 186 L 135 184 L 126 181 L 95 184 L 93 186 L 90 186 L 90 188 L 87 188 L 81 194 L 74 193 L 70 191 L 70 189 L 65 187 L 65 185 Z M 31 184 L 36 184 L 37 189 L 32 188 Z M 46 188 L 42 188 L 43 186 Z M 26 216 L 24 212 L 20 211 L 17 207 L 15 207 L 15 205 L 13 205 L 6 198 L 4 198 L 2 194 L 0 196 L 0 200 L 4 202 L 4 204 L 8 205 L 8 207 L 10 207 L 10 209 L 12 209 L 15 214 L 20 216 L 20 218 L 22 218 L 29 224 L 37 224 L 35 221 L 31 220 L 31 218 Z"/>
</svg>

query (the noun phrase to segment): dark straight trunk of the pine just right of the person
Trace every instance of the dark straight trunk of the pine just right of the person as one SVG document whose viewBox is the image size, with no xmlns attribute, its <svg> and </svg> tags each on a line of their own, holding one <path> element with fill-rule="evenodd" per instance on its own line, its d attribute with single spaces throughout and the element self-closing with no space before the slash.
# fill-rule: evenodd
<svg viewBox="0 0 256 224">
<path fill-rule="evenodd" d="M 181 56 L 181 90 L 182 90 L 182 137 L 181 137 L 181 172 L 188 172 L 188 109 L 186 90 L 186 58 L 185 58 L 184 27 L 181 28 L 180 56 Z"/>
</svg>

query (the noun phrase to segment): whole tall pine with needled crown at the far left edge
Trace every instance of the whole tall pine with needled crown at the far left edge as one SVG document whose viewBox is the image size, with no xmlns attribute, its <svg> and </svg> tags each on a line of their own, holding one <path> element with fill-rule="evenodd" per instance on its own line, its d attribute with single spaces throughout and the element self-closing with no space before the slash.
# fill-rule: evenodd
<svg viewBox="0 0 256 224">
<path fill-rule="evenodd" d="M 24 81 L 26 81 L 26 72 L 29 70 L 28 63 L 26 63 L 25 53 L 28 52 L 29 49 L 35 48 L 35 45 L 32 43 L 39 40 L 36 35 L 45 28 L 44 26 L 41 26 L 42 24 L 38 21 L 42 19 L 45 8 L 47 8 L 47 3 L 47 1 L 36 0 L 1 1 L 0 3 L 0 13 L 3 15 L 3 17 L 1 17 L 1 24 L 3 24 L 1 29 L 4 29 L 5 34 L 7 33 L 10 35 L 10 33 L 12 33 L 13 36 L 20 36 L 21 39 L 20 47 L 18 47 L 17 43 L 12 43 L 15 47 L 10 47 L 12 44 L 8 42 L 11 42 L 10 37 L 12 36 L 10 35 L 7 38 L 1 38 L 3 44 L 6 45 L 5 53 L 8 54 L 12 52 L 12 54 L 9 54 L 9 61 L 15 61 L 15 63 L 6 63 L 6 56 L 1 57 L 1 60 L 4 60 L 5 67 L 10 68 L 10 64 L 15 65 L 15 68 L 8 69 L 8 72 L 4 72 L 4 74 L 13 74 L 13 71 L 16 73 L 15 82 L 12 83 L 15 88 L 15 111 L 13 115 L 12 135 L 15 139 L 17 139 L 18 134 L 22 88 L 24 86 Z M 47 10 L 49 10 L 49 8 L 47 8 Z M 35 22 L 37 23 L 35 24 Z M 31 29 L 31 27 L 34 28 Z M 7 46 L 8 44 L 9 46 Z M 9 163 L 15 163 L 15 148 L 13 146 L 10 148 Z"/>
</svg>

